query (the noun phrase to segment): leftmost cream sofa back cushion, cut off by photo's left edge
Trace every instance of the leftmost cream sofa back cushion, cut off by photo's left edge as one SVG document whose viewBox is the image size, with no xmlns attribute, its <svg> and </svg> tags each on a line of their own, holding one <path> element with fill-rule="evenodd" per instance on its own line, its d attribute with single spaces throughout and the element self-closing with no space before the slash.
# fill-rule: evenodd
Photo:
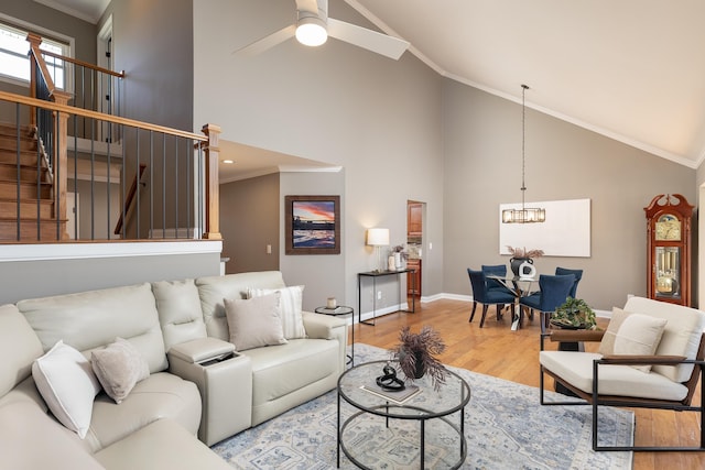
<svg viewBox="0 0 705 470">
<path fill-rule="evenodd" d="M 0 397 L 32 373 L 44 350 L 26 319 L 14 305 L 0 307 Z"/>
</svg>

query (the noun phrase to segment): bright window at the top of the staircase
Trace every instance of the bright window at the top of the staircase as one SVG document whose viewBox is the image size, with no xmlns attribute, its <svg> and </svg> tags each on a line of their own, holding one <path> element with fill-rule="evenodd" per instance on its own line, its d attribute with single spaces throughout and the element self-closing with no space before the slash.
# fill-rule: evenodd
<svg viewBox="0 0 705 470">
<path fill-rule="evenodd" d="M 0 19 L 1 20 L 1 19 Z M 39 28 L 32 28 L 39 31 Z M 22 28 L 8 24 L 0 21 L 0 77 L 10 81 L 29 84 L 30 81 L 30 59 L 28 52 L 30 43 L 26 41 L 26 34 L 30 28 Z M 48 51 L 64 56 L 70 55 L 69 42 L 61 42 L 47 37 L 44 32 L 42 34 L 42 51 Z M 48 68 L 48 73 L 54 80 L 54 85 L 59 89 L 66 88 L 66 64 L 62 59 L 45 56 L 44 61 Z"/>
</svg>

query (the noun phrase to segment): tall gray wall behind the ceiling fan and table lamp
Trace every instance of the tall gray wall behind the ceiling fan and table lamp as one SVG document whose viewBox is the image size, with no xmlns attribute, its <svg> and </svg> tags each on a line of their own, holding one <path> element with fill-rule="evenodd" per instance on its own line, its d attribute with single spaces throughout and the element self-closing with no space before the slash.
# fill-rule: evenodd
<svg viewBox="0 0 705 470">
<path fill-rule="evenodd" d="M 316 50 L 293 40 L 254 57 L 231 55 L 238 46 L 294 21 L 290 0 L 205 0 L 194 9 L 194 122 L 223 127 L 223 139 L 345 167 L 343 252 L 332 274 L 308 258 L 286 256 L 286 282 L 325 283 L 330 294 L 357 305 L 357 277 L 375 267 L 365 230 L 387 227 L 391 242 L 406 233 L 406 200 L 427 207 L 424 292 L 443 289 L 442 84 L 433 70 L 405 53 L 399 62 L 336 40 Z M 329 15 L 368 24 L 343 0 Z M 217 32 L 217 34 L 214 34 Z M 296 177 L 296 176 L 293 176 Z M 327 176 L 284 186 L 281 195 L 322 194 Z M 294 193 L 291 193 L 295 189 Z M 282 216 L 283 217 L 283 216 Z M 313 256 L 316 258 L 316 256 Z M 321 259 L 329 256 L 317 256 Z M 314 267 L 315 266 L 315 267 Z M 344 270 L 337 275 L 338 270 Z M 335 285 L 328 284 L 335 281 Z M 312 298 L 306 283 L 305 302 Z M 395 299 L 394 299 L 395 302 Z"/>
</svg>

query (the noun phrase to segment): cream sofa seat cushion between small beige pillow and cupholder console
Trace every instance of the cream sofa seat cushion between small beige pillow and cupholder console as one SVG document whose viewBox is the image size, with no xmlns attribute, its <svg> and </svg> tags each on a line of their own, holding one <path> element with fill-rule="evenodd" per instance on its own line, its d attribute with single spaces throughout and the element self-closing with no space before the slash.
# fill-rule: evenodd
<svg viewBox="0 0 705 470">
<path fill-rule="evenodd" d="M 161 418 L 177 422 L 195 436 L 200 407 L 200 394 L 193 382 L 159 372 L 134 385 L 119 405 L 108 395 L 98 394 L 86 442 L 95 452 Z"/>
</svg>

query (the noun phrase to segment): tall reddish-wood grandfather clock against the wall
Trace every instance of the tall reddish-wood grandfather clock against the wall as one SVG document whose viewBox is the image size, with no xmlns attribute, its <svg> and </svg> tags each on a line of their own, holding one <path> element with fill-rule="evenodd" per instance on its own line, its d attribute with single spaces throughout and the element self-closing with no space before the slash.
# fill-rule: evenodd
<svg viewBox="0 0 705 470">
<path fill-rule="evenodd" d="M 693 206 L 680 194 L 660 194 L 647 212 L 649 298 L 691 305 Z"/>
</svg>

